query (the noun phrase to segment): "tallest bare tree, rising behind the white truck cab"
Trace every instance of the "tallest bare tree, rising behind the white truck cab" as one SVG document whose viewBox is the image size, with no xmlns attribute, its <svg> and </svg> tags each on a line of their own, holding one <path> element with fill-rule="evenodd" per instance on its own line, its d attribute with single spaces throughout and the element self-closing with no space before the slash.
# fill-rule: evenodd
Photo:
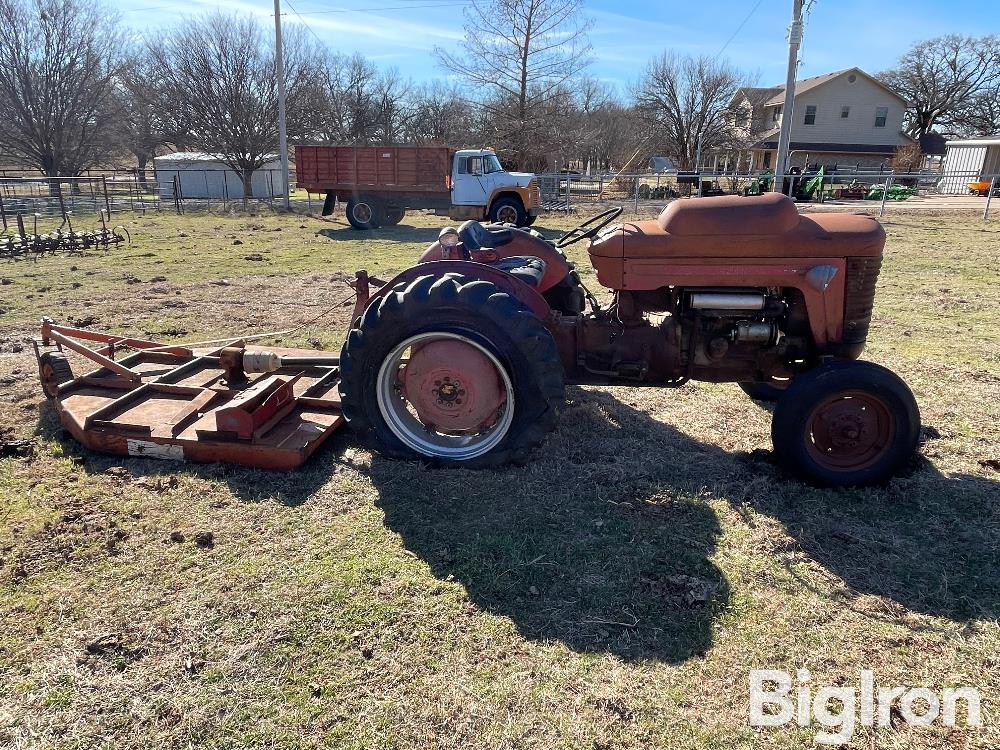
<svg viewBox="0 0 1000 750">
<path fill-rule="evenodd" d="M 436 48 L 447 70 L 479 87 L 507 157 L 526 167 L 566 84 L 590 63 L 583 0 L 472 0 L 461 51 Z"/>
</svg>

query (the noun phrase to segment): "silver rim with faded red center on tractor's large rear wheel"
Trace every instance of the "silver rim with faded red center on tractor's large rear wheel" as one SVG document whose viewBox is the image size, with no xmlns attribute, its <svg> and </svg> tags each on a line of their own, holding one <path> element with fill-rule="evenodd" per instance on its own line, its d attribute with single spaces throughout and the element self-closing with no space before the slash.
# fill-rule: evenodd
<svg viewBox="0 0 1000 750">
<path fill-rule="evenodd" d="M 507 370 L 457 333 L 422 333 L 398 344 L 379 368 L 377 395 L 393 434 L 428 458 L 466 461 L 488 453 L 514 420 Z"/>
</svg>

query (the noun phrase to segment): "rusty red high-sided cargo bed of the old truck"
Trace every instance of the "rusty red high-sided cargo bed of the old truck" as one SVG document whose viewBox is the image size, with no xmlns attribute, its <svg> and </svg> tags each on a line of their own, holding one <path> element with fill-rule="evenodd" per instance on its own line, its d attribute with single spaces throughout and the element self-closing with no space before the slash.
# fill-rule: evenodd
<svg viewBox="0 0 1000 750">
<path fill-rule="evenodd" d="M 454 154 L 445 146 L 296 146 L 295 173 L 313 193 L 448 193 Z"/>
</svg>

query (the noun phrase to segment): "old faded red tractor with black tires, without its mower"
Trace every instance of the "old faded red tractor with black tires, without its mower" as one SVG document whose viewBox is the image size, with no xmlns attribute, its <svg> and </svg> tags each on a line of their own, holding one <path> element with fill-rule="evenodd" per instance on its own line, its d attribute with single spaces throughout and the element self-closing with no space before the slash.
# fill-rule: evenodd
<svg viewBox="0 0 1000 750">
<path fill-rule="evenodd" d="M 469 221 L 377 294 L 359 289 L 340 358 L 350 425 L 390 456 L 492 466 L 542 441 L 565 384 L 704 380 L 774 401 L 775 453 L 807 481 L 872 484 L 907 463 L 913 394 L 858 360 L 885 245 L 877 221 L 800 216 L 776 193 L 675 201 L 651 221 L 620 214 L 555 242 Z M 563 254 L 582 240 L 613 291 L 606 306 Z"/>
</svg>

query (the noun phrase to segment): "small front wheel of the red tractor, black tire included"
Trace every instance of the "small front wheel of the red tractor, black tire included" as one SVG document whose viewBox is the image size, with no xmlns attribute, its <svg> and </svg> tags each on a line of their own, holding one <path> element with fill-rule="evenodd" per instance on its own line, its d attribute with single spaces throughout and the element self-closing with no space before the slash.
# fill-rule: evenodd
<svg viewBox="0 0 1000 750">
<path fill-rule="evenodd" d="M 885 482 L 913 455 L 920 411 L 906 383 L 871 362 L 831 362 L 796 377 L 774 407 L 771 440 L 813 484 Z"/>
</svg>

